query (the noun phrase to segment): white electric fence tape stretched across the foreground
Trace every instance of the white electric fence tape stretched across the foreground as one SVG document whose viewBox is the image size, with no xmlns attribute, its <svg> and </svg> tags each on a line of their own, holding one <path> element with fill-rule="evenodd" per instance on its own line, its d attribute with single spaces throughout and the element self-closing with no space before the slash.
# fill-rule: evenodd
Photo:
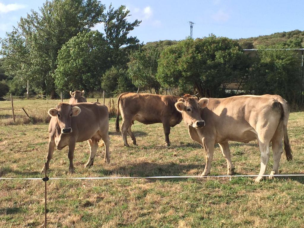
<svg viewBox="0 0 304 228">
<path fill-rule="evenodd" d="M 49 180 L 83 180 L 83 179 L 92 179 L 92 180 L 113 180 L 113 179 L 164 179 L 164 178 L 217 178 L 217 177 L 303 177 L 304 174 L 274 174 L 274 175 L 218 175 L 218 176 L 159 176 L 159 177 L 50 177 Z M 0 180 L 42 180 L 42 178 L 5 178 L 0 177 Z"/>
</svg>

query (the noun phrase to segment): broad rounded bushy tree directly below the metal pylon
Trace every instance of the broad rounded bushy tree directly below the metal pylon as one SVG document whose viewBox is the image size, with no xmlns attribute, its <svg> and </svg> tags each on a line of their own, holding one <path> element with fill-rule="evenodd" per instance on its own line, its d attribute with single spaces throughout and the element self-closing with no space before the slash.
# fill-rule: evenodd
<svg viewBox="0 0 304 228">
<path fill-rule="evenodd" d="M 244 77 L 247 58 L 232 39 L 214 35 L 188 38 L 163 50 L 157 79 L 167 88 L 192 87 L 200 96 L 218 97 L 223 95 L 225 85 Z"/>
</svg>

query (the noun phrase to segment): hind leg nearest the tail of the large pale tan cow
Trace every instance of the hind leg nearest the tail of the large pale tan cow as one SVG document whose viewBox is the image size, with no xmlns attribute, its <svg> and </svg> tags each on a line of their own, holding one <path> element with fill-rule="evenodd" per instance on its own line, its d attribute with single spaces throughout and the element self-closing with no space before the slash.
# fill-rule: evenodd
<svg viewBox="0 0 304 228">
<path fill-rule="evenodd" d="M 281 125 L 281 123 L 280 123 Z M 270 175 L 278 174 L 279 163 L 281 160 L 281 155 L 283 153 L 282 139 L 284 136 L 283 126 L 278 126 L 275 135 L 271 139 L 272 153 L 273 153 L 273 168 Z M 273 176 L 269 177 L 273 179 Z"/>
</svg>

